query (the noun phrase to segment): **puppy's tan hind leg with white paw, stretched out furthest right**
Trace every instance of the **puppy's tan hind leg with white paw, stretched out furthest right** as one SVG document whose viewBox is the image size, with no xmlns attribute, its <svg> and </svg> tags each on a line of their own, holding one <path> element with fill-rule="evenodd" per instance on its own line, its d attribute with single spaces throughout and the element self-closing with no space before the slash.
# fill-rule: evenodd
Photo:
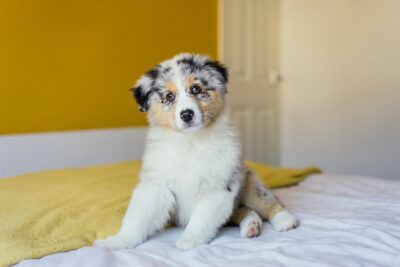
<svg viewBox="0 0 400 267">
<path fill-rule="evenodd" d="M 241 203 L 255 210 L 264 220 L 269 220 L 275 231 L 288 231 L 298 226 L 297 219 L 251 171 L 246 174 Z"/>
</svg>

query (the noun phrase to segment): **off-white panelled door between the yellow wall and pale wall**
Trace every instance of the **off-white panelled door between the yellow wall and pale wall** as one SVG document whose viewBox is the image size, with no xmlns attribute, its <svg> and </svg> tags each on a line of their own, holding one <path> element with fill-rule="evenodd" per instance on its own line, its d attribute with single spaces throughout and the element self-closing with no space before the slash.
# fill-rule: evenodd
<svg viewBox="0 0 400 267">
<path fill-rule="evenodd" d="M 279 163 L 278 1 L 220 0 L 219 55 L 230 72 L 228 99 L 244 158 Z"/>
</svg>

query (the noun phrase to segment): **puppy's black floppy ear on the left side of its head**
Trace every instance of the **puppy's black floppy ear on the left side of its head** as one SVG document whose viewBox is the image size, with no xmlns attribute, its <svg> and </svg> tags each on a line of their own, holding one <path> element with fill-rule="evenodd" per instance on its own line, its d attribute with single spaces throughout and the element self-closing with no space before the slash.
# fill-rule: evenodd
<svg viewBox="0 0 400 267">
<path fill-rule="evenodd" d="M 146 112 L 150 107 L 150 97 L 155 92 L 154 84 L 157 79 L 158 70 L 151 69 L 144 74 L 137 82 L 131 92 L 139 105 L 141 112 Z"/>
</svg>

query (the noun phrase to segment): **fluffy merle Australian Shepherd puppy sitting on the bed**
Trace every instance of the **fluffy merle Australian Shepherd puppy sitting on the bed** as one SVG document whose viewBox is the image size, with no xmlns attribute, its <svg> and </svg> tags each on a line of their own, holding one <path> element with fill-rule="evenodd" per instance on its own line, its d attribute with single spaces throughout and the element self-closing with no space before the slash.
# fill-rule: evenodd
<svg viewBox="0 0 400 267">
<path fill-rule="evenodd" d="M 176 242 L 210 242 L 228 222 L 240 234 L 297 226 L 273 193 L 244 166 L 238 130 L 225 103 L 228 73 L 207 56 L 179 54 L 145 73 L 132 89 L 150 130 L 140 182 L 120 231 L 97 246 L 133 248 L 167 223 L 184 227 Z"/>
</svg>

